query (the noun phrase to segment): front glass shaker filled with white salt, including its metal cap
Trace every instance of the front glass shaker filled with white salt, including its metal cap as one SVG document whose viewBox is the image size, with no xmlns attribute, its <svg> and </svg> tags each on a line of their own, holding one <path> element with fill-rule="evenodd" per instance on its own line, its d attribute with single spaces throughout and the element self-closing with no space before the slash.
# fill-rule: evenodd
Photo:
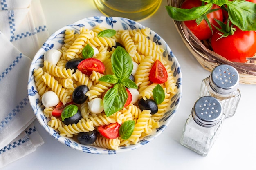
<svg viewBox="0 0 256 170">
<path fill-rule="evenodd" d="M 200 155 L 207 156 L 224 120 L 225 115 L 218 99 L 211 96 L 199 98 L 186 120 L 180 143 Z"/>
</svg>

